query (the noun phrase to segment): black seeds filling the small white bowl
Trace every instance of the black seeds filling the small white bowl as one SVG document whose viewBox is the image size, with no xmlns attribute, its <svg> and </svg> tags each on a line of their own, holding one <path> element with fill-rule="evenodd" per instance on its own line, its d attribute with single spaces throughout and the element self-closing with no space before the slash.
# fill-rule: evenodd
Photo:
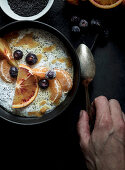
<svg viewBox="0 0 125 170">
<path fill-rule="evenodd" d="M 19 16 L 30 17 L 40 13 L 49 0 L 8 0 L 12 11 Z"/>
</svg>

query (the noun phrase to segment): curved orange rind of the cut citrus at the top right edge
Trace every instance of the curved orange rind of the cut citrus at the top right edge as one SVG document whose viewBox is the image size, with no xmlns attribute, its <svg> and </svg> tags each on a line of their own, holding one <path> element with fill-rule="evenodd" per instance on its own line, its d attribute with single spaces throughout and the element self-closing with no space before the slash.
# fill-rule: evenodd
<svg viewBox="0 0 125 170">
<path fill-rule="evenodd" d="M 102 9 L 111 9 L 114 7 L 117 7 L 118 5 L 120 5 L 123 0 L 118 0 L 117 2 L 115 2 L 114 4 L 111 5 L 101 5 L 99 3 L 97 3 L 95 0 L 89 0 L 94 6 L 98 7 L 98 8 L 102 8 Z"/>
</svg>

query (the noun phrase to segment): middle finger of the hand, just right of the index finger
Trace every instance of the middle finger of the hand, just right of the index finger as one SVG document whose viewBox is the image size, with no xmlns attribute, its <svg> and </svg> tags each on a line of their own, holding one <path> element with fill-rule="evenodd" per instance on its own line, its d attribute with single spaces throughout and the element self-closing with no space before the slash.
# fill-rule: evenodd
<svg viewBox="0 0 125 170">
<path fill-rule="evenodd" d="M 120 104 L 117 100 L 111 99 L 109 101 L 109 106 L 111 110 L 113 126 L 115 129 L 118 129 L 119 125 L 122 125 L 124 123 L 124 115 L 122 113 Z"/>
</svg>

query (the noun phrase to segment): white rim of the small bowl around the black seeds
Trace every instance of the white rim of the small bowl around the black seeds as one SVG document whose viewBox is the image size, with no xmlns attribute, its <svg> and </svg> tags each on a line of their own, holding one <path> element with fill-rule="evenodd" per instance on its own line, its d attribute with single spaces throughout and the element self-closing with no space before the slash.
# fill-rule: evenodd
<svg viewBox="0 0 125 170">
<path fill-rule="evenodd" d="M 39 19 L 43 15 L 45 15 L 49 11 L 49 9 L 52 7 L 53 3 L 54 3 L 54 0 L 48 0 L 46 7 L 41 12 L 39 12 L 36 15 L 29 16 L 29 17 L 23 17 L 23 16 L 20 16 L 20 15 L 14 13 L 14 11 L 10 8 L 7 0 L 0 0 L 0 7 L 6 15 L 8 15 L 10 18 L 12 18 L 14 20 L 18 20 L 18 21 L 32 20 L 32 21 L 34 21 L 36 19 Z M 7 8 L 8 10 L 6 10 L 5 8 Z"/>
</svg>

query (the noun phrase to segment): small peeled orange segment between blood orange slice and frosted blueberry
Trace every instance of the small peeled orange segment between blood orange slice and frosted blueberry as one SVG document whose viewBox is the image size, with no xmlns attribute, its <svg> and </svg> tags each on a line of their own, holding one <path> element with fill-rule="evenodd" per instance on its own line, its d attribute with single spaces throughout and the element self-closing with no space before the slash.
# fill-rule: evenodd
<svg viewBox="0 0 125 170">
<path fill-rule="evenodd" d="M 36 75 L 38 78 L 45 78 L 46 72 L 49 71 L 46 67 L 39 67 L 39 68 L 33 68 L 32 73 Z"/>
</svg>

